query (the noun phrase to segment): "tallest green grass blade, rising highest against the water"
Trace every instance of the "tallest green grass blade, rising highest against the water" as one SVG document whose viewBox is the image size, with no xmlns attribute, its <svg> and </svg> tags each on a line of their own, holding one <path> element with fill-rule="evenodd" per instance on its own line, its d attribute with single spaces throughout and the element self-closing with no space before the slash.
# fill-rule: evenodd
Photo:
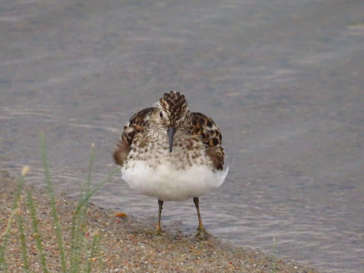
<svg viewBox="0 0 364 273">
<path fill-rule="evenodd" d="M 67 273 L 66 259 L 64 256 L 64 249 L 63 249 L 62 230 L 61 230 L 61 225 L 60 225 L 60 222 L 58 219 L 58 213 L 56 210 L 56 202 L 54 199 L 51 175 L 49 172 L 48 161 L 47 161 L 46 141 L 44 139 L 43 133 L 40 134 L 40 154 L 41 154 L 41 159 L 42 159 L 42 163 L 43 163 L 44 175 L 46 177 L 47 191 L 48 191 L 48 195 L 49 195 L 50 203 L 51 203 L 51 214 L 52 214 L 52 218 L 53 218 L 53 222 L 54 222 L 55 230 L 56 230 L 56 238 L 57 238 L 57 244 L 58 244 L 58 248 L 59 248 L 59 252 L 60 252 L 60 261 L 61 261 L 61 265 L 62 265 L 62 271 L 64 273 Z"/>
</svg>

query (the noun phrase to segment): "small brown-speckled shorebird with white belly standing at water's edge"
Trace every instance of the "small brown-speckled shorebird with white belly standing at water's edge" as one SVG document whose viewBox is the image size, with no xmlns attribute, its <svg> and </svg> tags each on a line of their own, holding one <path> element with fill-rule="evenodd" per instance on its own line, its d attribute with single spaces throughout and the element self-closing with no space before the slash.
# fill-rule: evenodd
<svg viewBox="0 0 364 273">
<path fill-rule="evenodd" d="M 115 163 L 131 189 L 158 198 L 156 234 L 161 235 L 163 201 L 193 198 L 198 232 L 202 225 L 198 197 L 219 187 L 227 174 L 223 169 L 221 132 L 211 118 L 191 112 L 184 95 L 170 91 L 155 107 L 134 114 L 116 144 Z"/>
</svg>

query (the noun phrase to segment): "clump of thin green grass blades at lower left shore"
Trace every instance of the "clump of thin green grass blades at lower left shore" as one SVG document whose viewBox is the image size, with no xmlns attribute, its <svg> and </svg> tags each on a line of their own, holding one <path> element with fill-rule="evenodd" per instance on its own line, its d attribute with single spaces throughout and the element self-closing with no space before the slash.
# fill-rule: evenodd
<svg viewBox="0 0 364 273">
<path fill-rule="evenodd" d="M 72 229 L 71 229 L 71 249 L 69 255 L 69 264 L 70 268 L 67 269 L 66 266 L 66 258 L 65 258 L 65 251 L 64 251 L 64 243 L 62 238 L 62 229 L 60 220 L 58 217 L 58 212 L 56 209 L 56 201 L 54 196 L 54 190 L 51 182 L 51 175 L 48 167 L 48 160 L 47 160 L 47 153 L 46 153 L 46 143 L 44 139 L 44 134 L 40 134 L 40 154 L 42 165 L 44 169 L 44 177 L 45 183 L 47 186 L 47 193 L 48 198 L 50 200 L 50 209 L 51 209 L 51 216 L 53 219 L 53 224 L 55 226 L 56 232 L 56 240 L 58 244 L 58 250 L 60 253 L 60 263 L 62 266 L 62 272 L 79 272 L 82 269 L 82 272 L 91 272 L 92 270 L 92 260 L 96 256 L 96 252 L 98 249 L 98 244 L 100 240 L 100 236 L 97 232 L 94 233 L 94 237 L 92 239 L 92 244 L 88 247 L 87 238 L 84 236 L 84 231 L 86 227 L 86 217 L 87 217 L 87 202 L 90 197 L 99 190 L 106 182 L 110 181 L 111 177 L 120 170 L 120 167 L 116 167 L 112 170 L 107 177 L 100 182 L 94 189 L 91 188 L 91 174 L 92 174 L 92 166 L 95 159 L 95 145 L 92 144 L 91 146 L 91 156 L 88 165 L 88 174 L 86 183 L 81 185 L 80 190 L 80 198 L 78 205 L 75 209 L 75 212 L 72 216 Z M 24 186 L 24 177 L 27 173 L 29 167 L 24 167 L 21 177 L 18 180 L 17 188 L 15 191 L 15 196 L 12 203 L 11 214 L 8 218 L 8 223 L 5 231 L 0 234 L 0 238 L 2 240 L 1 248 L 0 248 L 0 271 L 8 272 L 7 265 L 5 262 L 5 248 L 7 246 L 7 242 L 10 237 L 10 231 L 12 227 L 12 223 L 14 218 L 16 218 L 17 225 L 19 227 L 19 236 L 20 236 L 20 244 L 22 250 L 22 258 L 23 258 L 23 268 L 24 272 L 29 272 L 29 261 L 27 256 L 27 245 L 26 245 L 26 237 L 24 233 L 24 218 L 21 215 L 21 211 L 19 207 L 19 200 L 20 200 L 20 193 Z M 38 222 L 37 222 L 37 215 L 36 215 L 36 207 L 33 202 L 31 191 L 27 192 L 27 199 L 28 199 L 28 207 L 31 213 L 32 219 L 32 227 L 33 227 L 33 234 L 37 245 L 37 252 L 39 254 L 39 258 L 42 264 L 43 272 L 48 273 L 47 269 L 47 260 L 43 252 L 42 248 L 42 239 L 39 233 Z M 81 252 L 84 251 L 85 255 L 83 258 L 83 264 L 81 264 Z M 94 259 L 95 260 L 95 259 Z M 102 267 L 102 264 L 99 264 Z"/>
</svg>

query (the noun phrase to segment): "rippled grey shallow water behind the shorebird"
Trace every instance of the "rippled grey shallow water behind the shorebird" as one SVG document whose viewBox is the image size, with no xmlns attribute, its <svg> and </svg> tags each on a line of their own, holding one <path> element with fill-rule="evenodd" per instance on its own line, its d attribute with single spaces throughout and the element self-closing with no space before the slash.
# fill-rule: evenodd
<svg viewBox="0 0 364 273">
<path fill-rule="evenodd" d="M 0 167 L 31 166 L 39 132 L 57 189 L 76 196 L 114 168 L 123 124 L 163 92 L 223 132 L 230 170 L 200 198 L 205 227 L 325 272 L 364 268 L 363 1 L 3 1 Z M 92 202 L 156 218 L 117 176 Z M 193 202 L 163 225 L 194 233 Z"/>
</svg>

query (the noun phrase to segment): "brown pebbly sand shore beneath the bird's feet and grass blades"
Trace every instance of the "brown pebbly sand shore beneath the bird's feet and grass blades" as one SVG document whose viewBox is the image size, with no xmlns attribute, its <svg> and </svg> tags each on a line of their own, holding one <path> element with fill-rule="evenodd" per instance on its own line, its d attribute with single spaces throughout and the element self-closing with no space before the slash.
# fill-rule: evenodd
<svg viewBox="0 0 364 273">
<path fill-rule="evenodd" d="M 2 171 L 0 185 L 0 243 L 2 244 L 2 236 L 11 215 L 17 180 L 10 177 L 6 171 Z M 45 191 L 41 192 L 25 185 L 24 190 L 27 189 L 32 190 L 37 208 L 48 269 L 51 272 L 60 272 L 59 250 L 50 213 L 50 201 Z M 24 218 L 29 271 L 39 272 L 41 262 L 33 237 L 24 190 L 21 193 L 20 208 Z M 72 213 L 77 202 L 56 196 L 56 203 L 67 258 L 70 249 Z M 86 223 L 84 240 L 88 240 L 91 245 L 94 234 L 100 235 L 97 257 L 92 261 L 92 272 L 272 272 L 273 263 L 276 272 L 318 272 L 309 266 L 276 259 L 258 250 L 222 243 L 215 237 L 207 241 L 198 241 L 193 234 L 182 234 L 180 230 L 171 227 L 164 228 L 163 236 L 154 236 L 154 222 L 132 215 L 123 215 L 122 212 L 118 214 L 92 203 L 88 205 Z M 19 231 L 14 221 L 5 251 L 9 272 L 23 272 L 19 241 Z"/>
</svg>

